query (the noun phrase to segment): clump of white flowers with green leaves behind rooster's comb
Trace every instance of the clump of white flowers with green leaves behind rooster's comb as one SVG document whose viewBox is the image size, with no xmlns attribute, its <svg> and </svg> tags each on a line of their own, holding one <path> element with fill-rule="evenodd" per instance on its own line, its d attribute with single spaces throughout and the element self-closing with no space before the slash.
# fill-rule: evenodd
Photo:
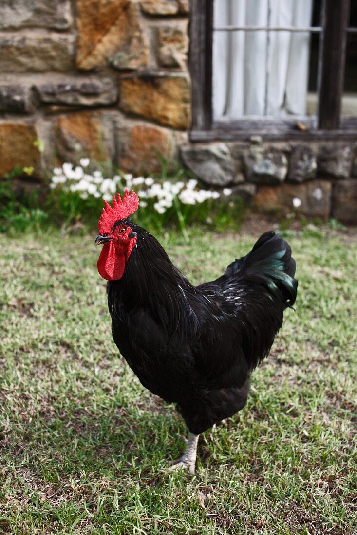
<svg viewBox="0 0 357 535">
<path fill-rule="evenodd" d="M 56 167 L 49 185 L 49 209 L 56 217 L 65 215 L 65 227 L 81 221 L 95 225 L 103 200 L 110 202 L 116 192 L 135 189 L 140 199 L 136 220 L 151 230 L 178 227 L 187 238 L 188 225 L 206 223 L 226 227 L 229 218 L 242 219 L 240 202 L 220 201 L 221 196 L 232 194 L 230 189 L 224 189 L 221 194 L 200 188 L 196 178 L 175 162 L 162 158 L 161 172 L 152 177 L 133 177 L 119 171 L 111 174 L 108 177 L 103 170 L 94 169 L 88 158 L 81 159 L 76 167 L 69 163 Z"/>
</svg>

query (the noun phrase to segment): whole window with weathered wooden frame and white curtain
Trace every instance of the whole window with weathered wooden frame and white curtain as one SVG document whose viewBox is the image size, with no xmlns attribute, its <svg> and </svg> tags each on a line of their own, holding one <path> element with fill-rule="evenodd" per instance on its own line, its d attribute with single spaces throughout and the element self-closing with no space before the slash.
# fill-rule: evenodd
<svg viewBox="0 0 357 535">
<path fill-rule="evenodd" d="M 192 0 L 191 139 L 356 135 L 356 4 Z"/>
</svg>

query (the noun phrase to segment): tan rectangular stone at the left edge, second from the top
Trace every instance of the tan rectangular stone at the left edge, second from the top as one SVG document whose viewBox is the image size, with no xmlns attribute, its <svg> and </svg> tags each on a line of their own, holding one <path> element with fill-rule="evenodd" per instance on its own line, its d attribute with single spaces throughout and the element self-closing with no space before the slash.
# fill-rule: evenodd
<svg viewBox="0 0 357 535">
<path fill-rule="evenodd" d="M 61 34 L 3 34 L 0 37 L 2 72 L 70 71 L 74 38 Z"/>
</svg>

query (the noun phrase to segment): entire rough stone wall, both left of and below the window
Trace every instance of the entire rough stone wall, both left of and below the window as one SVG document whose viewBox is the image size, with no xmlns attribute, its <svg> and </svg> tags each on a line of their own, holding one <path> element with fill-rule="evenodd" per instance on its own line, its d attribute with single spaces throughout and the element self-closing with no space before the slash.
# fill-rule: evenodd
<svg viewBox="0 0 357 535">
<path fill-rule="evenodd" d="M 2 0 L 0 175 L 81 157 L 123 171 L 180 158 L 207 185 L 262 209 L 349 222 L 356 144 L 189 143 L 189 0 Z"/>
</svg>

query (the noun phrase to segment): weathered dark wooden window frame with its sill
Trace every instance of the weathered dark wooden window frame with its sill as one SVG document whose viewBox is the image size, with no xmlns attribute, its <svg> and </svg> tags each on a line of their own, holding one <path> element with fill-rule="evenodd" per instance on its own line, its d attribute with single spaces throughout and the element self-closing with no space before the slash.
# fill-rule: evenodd
<svg viewBox="0 0 357 535">
<path fill-rule="evenodd" d="M 213 121 L 212 117 L 213 2 L 191 0 L 191 141 L 236 140 L 257 134 L 265 139 L 351 139 L 357 136 L 357 117 L 340 114 L 350 0 L 324 0 L 317 116 L 242 117 L 230 123 Z"/>
</svg>

